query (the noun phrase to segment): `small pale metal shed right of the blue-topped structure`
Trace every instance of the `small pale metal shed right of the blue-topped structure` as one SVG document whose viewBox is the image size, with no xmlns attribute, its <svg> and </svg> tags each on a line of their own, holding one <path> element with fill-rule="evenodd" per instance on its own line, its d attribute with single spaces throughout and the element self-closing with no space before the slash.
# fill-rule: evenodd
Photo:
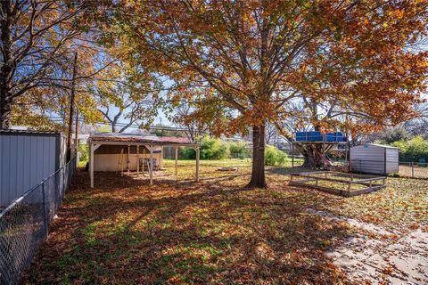
<svg viewBox="0 0 428 285">
<path fill-rule="evenodd" d="M 399 149 L 366 143 L 350 148 L 350 167 L 354 172 L 388 175 L 399 172 Z"/>
</svg>

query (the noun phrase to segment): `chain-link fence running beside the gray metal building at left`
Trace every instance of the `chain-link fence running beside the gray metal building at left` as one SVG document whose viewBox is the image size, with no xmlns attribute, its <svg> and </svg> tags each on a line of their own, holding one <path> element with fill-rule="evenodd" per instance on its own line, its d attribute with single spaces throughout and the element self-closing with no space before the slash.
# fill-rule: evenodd
<svg viewBox="0 0 428 285">
<path fill-rule="evenodd" d="M 20 281 L 47 237 L 75 171 L 76 157 L 0 213 L 0 284 Z"/>
</svg>

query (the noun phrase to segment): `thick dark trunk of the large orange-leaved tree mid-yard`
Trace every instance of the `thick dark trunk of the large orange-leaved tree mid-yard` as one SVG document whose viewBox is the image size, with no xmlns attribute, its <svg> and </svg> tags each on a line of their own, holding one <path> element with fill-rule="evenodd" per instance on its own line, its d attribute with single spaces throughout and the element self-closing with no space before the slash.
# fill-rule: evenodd
<svg viewBox="0 0 428 285">
<path fill-rule="evenodd" d="M 252 127 L 252 172 L 246 188 L 266 188 L 265 180 L 265 125 Z"/>
</svg>

